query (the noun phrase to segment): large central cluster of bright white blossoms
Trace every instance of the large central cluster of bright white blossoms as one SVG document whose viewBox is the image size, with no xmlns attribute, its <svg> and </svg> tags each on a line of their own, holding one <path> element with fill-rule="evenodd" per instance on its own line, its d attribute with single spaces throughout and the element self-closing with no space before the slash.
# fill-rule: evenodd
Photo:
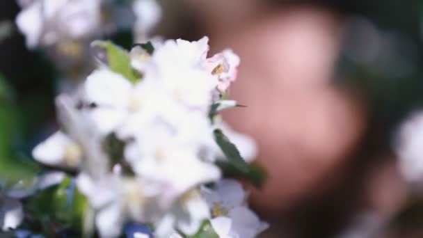
<svg viewBox="0 0 423 238">
<path fill-rule="evenodd" d="M 76 93 L 59 95 L 62 129 L 33 157 L 77 173 L 101 237 L 118 237 L 128 221 L 152 225 L 154 237 L 195 235 L 208 219 L 220 237 L 262 232 L 266 224 L 246 208 L 241 185 L 221 181 L 216 166 L 226 159 L 216 132 L 248 161 L 255 155 L 250 138 L 214 116 L 237 106 L 223 95 L 236 79 L 238 56 L 225 50 L 207 58 L 207 37 L 114 50 L 130 67 L 109 57 L 109 67 L 100 66 Z"/>
</svg>

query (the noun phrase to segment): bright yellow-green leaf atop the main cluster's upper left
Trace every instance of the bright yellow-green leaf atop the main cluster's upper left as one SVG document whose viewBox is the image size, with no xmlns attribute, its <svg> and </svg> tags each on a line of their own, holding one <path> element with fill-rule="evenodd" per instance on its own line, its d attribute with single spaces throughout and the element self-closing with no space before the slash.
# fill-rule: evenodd
<svg viewBox="0 0 423 238">
<path fill-rule="evenodd" d="M 131 67 L 131 58 L 125 49 L 118 45 L 114 45 L 111 41 L 97 40 L 93 42 L 92 45 L 106 50 L 109 68 L 111 68 L 113 72 L 122 74 L 123 77 L 129 79 L 133 84 L 138 81 L 139 78 L 136 77 Z"/>
</svg>

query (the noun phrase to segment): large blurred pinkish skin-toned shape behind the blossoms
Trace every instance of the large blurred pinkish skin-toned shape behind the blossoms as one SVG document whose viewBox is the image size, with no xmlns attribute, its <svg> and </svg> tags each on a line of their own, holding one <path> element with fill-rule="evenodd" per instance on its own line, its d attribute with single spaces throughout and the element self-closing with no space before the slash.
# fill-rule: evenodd
<svg viewBox="0 0 423 238">
<path fill-rule="evenodd" d="M 229 46 L 241 57 L 230 97 L 248 108 L 228 111 L 225 120 L 257 140 L 257 161 L 269 173 L 264 188 L 253 190 L 253 203 L 278 212 L 342 180 L 365 118 L 360 104 L 332 82 L 340 19 L 311 7 L 265 10 L 250 0 L 255 7 L 239 3 L 247 13 L 232 22 L 219 12 L 226 1 L 213 1 L 213 8 L 190 2 L 207 16 L 212 51 Z"/>
</svg>

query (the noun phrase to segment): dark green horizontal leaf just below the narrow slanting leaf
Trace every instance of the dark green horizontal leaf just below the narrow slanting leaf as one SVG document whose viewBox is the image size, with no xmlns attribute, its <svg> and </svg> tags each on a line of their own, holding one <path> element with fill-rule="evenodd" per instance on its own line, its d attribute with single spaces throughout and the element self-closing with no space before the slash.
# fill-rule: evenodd
<svg viewBox="0 0 423 238">
<path fill-rule="evenodd" d="M 247 171 L 241 171 L 227 161 L 217 161 L 216 164 L 221 168 L 225 177 L 238 177 L 239 179 L 253 183 L 256 187 L 259 188 L 262 187 L 266 181 L 266 171 L 264 168 L 261 168 L 255 164 L 248 164 Z"/>
</svg>

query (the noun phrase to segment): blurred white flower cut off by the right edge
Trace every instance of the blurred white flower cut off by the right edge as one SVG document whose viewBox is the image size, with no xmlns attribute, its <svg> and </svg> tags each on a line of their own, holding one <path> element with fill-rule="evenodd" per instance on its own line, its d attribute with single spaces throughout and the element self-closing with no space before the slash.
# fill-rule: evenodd
<svg viewBox="0 0 423 238">
<path fill-rule="evenodd" d="M 414 113 L 401 126 L 394 149 L 401 174 L 408 182 L 423 181 L 423 112 Z"/>
</svg>

